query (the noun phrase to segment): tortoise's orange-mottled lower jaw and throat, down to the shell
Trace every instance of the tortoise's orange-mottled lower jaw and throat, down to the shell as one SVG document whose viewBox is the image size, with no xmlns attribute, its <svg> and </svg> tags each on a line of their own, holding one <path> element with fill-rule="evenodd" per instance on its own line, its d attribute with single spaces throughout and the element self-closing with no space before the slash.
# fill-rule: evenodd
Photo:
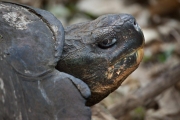
<svg viewBox="0 0 180 120">
<path fill-rule="evenodd" d="M 87 105 L 93 105 L 116 90 L 121 83 L 139 65 L 144 55 L 143 46 L 123 56 L 114 65 L 110 66 L 105 73 L 104 82 L 91 88 L 92 96 L 88 99 Z M 95 100 L 95 101 L 94 101 Z"/>
</svg>

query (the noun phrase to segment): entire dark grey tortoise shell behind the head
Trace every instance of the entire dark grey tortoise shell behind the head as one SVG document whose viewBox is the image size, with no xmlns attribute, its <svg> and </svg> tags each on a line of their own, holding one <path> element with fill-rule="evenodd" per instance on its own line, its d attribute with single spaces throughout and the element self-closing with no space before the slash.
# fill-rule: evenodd
<svg viewBox="0 0 180 120">
<path fill-rule="evenodd" d="M 51 13 L 0 2 L 1 120 L 90 119 L 87 85 L 55 69 L 63 44 Z"/>
</svg>

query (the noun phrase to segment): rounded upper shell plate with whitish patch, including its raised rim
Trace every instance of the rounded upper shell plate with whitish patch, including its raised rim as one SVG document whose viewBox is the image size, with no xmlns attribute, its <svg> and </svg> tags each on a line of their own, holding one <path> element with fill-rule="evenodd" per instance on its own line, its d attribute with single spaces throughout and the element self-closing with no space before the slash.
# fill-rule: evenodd
<svg viewBox="0 0 180 120">
<path fill-rule="evenodd" d="M 25 76 L 54 70 L 64 45 L 61 22 L 50 12 L 15 3 L 0 2 L 0 10 L 1 59 Z"/>
</svg>

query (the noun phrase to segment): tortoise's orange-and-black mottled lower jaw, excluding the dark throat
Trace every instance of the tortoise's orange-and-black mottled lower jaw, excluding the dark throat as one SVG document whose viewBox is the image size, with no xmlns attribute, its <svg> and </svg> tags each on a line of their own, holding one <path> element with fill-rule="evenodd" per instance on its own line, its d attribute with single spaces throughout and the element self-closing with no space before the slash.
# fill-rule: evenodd
<svg viewBox="0 0 180 120">
<path fill-rule="evenodd" d="M 101 87 L 95 88 L 94 92 L 106 93 L 107 91 L 115 90 L 120 86 L 124 79 L 131 74 L 140 64 L 143 59 L 143 46 L 137 50 L 121 57 L 116 63 L 108 67 L 105 76 L 106 82 L 101 83 Z M 105 92 L 106 91 L 106 92 Z"/>
</svg>

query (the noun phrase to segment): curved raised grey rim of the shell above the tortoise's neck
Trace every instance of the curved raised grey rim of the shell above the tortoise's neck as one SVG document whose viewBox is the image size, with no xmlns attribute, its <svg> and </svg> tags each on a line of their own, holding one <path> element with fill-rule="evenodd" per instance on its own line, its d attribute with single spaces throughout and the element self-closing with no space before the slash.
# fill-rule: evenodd
<svg viewBox="0 0 180 120">
<path fill-rule="evenodd" d="M 3 3 L 9 4 L 9 2 L 4 2 L 4 1 Z M 39 17 L 48 26 L 48 28 L 53 34 L 54 51 L 55 51 L 54 61 L 50 62 L 50 65 L 55 66 L 61 57 L 64 46 L 64 40 L 65 40 L 64 28 L 61 22 L 52 13 L 48 11 L 41 10 L 38 8 L 33 8 L 22 4 L 17 4 L 17 3 L 10 3 L 10 4 L 15 4 L 26 8 L 29 12 L 34 13 L 37 17 Z"/>
</svg>

